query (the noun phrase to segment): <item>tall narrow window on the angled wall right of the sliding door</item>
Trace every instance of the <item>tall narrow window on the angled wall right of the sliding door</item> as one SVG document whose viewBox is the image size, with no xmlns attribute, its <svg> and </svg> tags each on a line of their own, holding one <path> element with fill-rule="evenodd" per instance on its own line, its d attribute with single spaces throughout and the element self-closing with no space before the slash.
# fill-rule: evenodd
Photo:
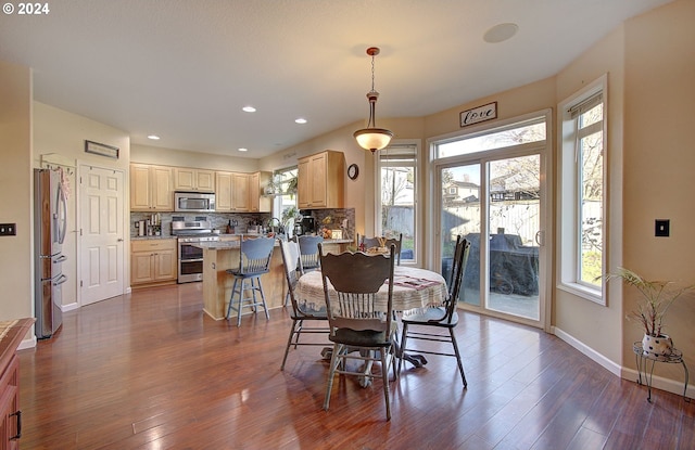
<svg viewBox="0 0 695 450">
<path fill-rule="evenodd" d="M 605 304 L 605 77 L 560 105 L 561 286 Z"/>
</svg>

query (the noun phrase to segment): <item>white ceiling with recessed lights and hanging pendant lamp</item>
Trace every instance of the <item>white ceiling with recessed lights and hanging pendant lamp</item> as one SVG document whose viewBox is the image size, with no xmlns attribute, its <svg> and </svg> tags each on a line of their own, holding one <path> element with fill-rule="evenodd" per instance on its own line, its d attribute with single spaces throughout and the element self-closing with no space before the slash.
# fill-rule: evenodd
<svg viewBox="0 0 695 450">
<path fill-rule="evenodd" d="M 363 126 L 367 47 L 381 48 L 379 125 L 552 76 L 668 1 L 49 0 L 48 14 L 0 14 L 0 60 L 34 68 L 36 100 L 132 143 L 262 157 Z M 517 35 L 483 41 L 501 23 Z"/>
</svg>

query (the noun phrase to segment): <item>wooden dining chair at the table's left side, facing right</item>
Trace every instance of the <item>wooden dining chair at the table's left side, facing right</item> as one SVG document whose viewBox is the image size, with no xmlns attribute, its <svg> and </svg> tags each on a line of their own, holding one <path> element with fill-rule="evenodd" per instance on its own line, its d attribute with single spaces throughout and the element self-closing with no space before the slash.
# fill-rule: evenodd
<svg viewBox="0 0 695 450">
<path fill-rule="evenodd" d="M 280 241 L 280 249 L 282 252 L 288 295 L 290 297 L 290 303 L 292 304 L 292 312 L 290 313 L 292 325 L 290 327 L 290 336 L 287 339 L 287 346 L 285 347 L 282 365 L 280 365 L 280 370 L 285 370 L 285 363 L 287 362 L 287 356 L 290 351 L 290 347 L 294 346 L 295 349 L 296 346 L 300 345 L 325 347 L 328 344 L 327 342 L 300 342 L 301 334 L 328 335 L 329 330 L 328 317 L 326 316 L 325 307 L 315 309 L 307 305 L 306 301 L 302 303 L 296 299 L 294 287 L 296 286 L 299 278 L 303 274 L 300 267 L 299 244 L 291 241 Z M 305 322 L 312 323 L 312 325 L 305 326 Z"/>
</svg>

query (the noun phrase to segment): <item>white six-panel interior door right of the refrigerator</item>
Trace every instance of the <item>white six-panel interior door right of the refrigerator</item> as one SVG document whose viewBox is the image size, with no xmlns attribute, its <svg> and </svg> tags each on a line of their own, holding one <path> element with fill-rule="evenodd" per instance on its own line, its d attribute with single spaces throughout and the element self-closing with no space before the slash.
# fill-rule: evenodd
<svg viewBox="0 0 695 450">
<path fill-rule="evenodd" d="M 123 197 L 119 170 L 80 166 L 79 233 L 81 305 L 124 293 Z"/>
</svg>

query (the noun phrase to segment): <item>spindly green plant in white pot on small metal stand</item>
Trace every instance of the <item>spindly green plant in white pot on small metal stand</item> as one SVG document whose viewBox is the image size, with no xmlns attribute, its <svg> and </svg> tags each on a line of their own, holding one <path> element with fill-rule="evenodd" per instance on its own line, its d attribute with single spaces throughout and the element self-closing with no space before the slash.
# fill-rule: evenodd
<svg viewBox="0 0 695 450">
<path fill-rule="evenodd" d="M 642 294 L 637 301 L 637 309 L 628 313 L 627 319 L 644 327 L 642 349 L 645 355 L 671 355 L 673 342 L 664 333 L 664 322 L 669 308 L 681 295 L 695 290 L 695 284 L 677 287 L 672 281 L 645 280 L 630 269 L 618 268 L 609 273 L 606 280 L 621 279 L 626 284 L 636 287 Z"/>
</svg>

